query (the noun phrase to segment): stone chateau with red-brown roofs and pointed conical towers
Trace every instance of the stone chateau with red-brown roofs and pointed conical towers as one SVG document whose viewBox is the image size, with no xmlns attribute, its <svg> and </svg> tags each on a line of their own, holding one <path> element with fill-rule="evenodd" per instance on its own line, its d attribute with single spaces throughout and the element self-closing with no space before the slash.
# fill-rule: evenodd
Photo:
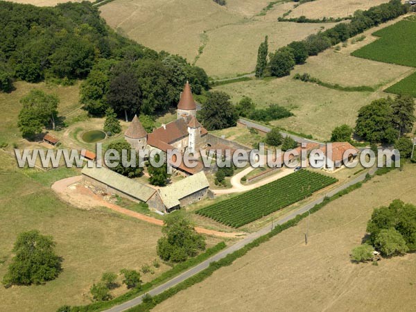
<svg viewBox="0 0 416 312">
<path fill-rule="evenodd" d="M 198 157 L 198 150 L 207 147 L 207 134 L 208 131 L 196 119 L 196 103 L 193 100 L 191 86 L 187 82 L 177 105 L 175 121 L 147 133 L 136 115 L 124 137 L 136 150 L 156 148 L 166 153 L 167 150 L 176 148 L 180 153 L 194 153 Z M 199 172 L 202 166 L 186 168 L 181 165 L 179 169 L 187 174 L 194 174 Z"/>
</svg>

